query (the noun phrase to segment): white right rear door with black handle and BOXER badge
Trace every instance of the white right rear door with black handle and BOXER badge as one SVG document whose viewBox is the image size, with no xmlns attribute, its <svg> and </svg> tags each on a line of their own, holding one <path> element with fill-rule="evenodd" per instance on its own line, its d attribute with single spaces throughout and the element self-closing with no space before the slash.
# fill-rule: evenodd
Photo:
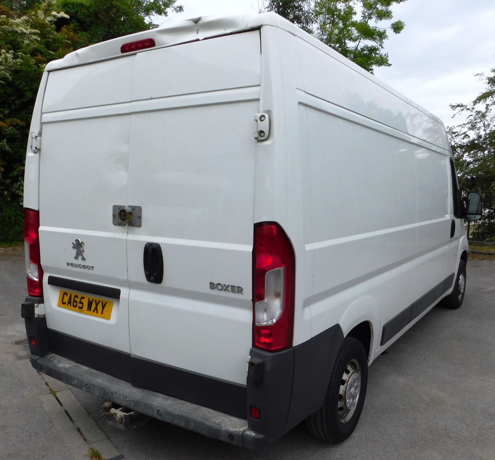
<svg viewBox="0 0 495 460">
<path fill-rule="evenodd" d="M 259 31 L 137 55 L 129 158 L 131 353 L 246 384 Z M 147 243 L 163 280 L 147 281 Z M 156 254 L 154 255 L 156 256 Z"/>
</svg>

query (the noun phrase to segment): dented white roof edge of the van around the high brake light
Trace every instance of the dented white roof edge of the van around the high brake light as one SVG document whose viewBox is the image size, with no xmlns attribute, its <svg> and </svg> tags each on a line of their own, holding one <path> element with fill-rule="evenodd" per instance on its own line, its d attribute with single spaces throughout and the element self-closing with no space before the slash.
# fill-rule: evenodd
<svg viewBox="0 0 495 460">
<path fill-rule="evenodd" d="M 292 22 L 273 12 L 260 14 L 236 14 L 230 16 L 202 16 L 198 18 L 186 19 L 184 21 L 175 22 L 170 25 L 158 27 L 156 29 L 138 32 L 136 34 L 119 37 L 116 39 L 108 40 L 106 42 L 87 46 L 76 51 L 72 51 L 62 59 L 49 62 L 46 70 L 59 70 L 67 67 L 74 67 L 89 64 L 92 62 L 127 56 L 129 54 L 132 54 L 132 52 L 122 54 L 120 52 L 120 47 L 124 43 L 133 42 L 141 39 L 152 38 L 156 43 L 153 49 L 156 49 L 165 46 L 173 46 L 180 43 L 209 39 L 221 35 L 235 34 L 238 32 L 259 29 L 262 26 L 278 27 L 279 29 L 285 30 L 292 35 L 295 35 L 302 40 L 311 43 L 313 46 L 316 46 L 326 54 L 342 62 L 347 67 L 350 67 L 367 79 L 373 81 L 376 84 L 379 84 L 387 91 L 395 94 L 400 99 L 404 100 L 411 106 L 423 112 L 425 115 L 431 117 L 432 119 L 443 125 L 442 120 L 432 115 L 430 112 L 416 104 L 408 97 L 404 96 L 392 86 L 389 86 L 388 84 L 382 82 L 374 75 L 366 72 L 357 64 L 354 64 L 352 61 L 342 56 L 330 46 L 327 46 L 326 44 L 320 42 L 308 33 L 304 32 L 299 27 L 295 26 Z M 144 49 L 142 51 L 135 52 L 145 51 L 147 50 Z"/>
</svg>

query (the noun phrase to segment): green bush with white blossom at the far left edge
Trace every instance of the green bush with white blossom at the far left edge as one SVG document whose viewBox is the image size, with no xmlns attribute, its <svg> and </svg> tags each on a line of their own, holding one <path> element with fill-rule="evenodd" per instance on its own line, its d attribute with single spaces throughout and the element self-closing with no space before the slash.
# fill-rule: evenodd
<svg viewBox="0 0 495 460">
<path fill-rule="evenodd" d="M 22 233 L 24 157 L 38 85 L 46 63 L 72 51 L 77 37 L 54 23 L 54 2 L 0 3 L 0 241 Z"/>
</svg>

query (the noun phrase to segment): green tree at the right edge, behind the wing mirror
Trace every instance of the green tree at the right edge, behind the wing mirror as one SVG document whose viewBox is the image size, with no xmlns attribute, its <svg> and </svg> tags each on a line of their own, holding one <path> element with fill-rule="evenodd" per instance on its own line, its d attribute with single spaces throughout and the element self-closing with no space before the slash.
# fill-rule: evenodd
<svg viewBox="0 0 495 460">
<path fill-rule="evenodd" d="M 478 236 L 495 240 L 495 68 L 477 74 L 485 90 L 473 101 L 451 104 L 455 116 L 466 120 L 448 128 L 452 153 L 464 191 L 476 190 L 483 196 L 485 219 L 477 226 Z"/>
</svg>

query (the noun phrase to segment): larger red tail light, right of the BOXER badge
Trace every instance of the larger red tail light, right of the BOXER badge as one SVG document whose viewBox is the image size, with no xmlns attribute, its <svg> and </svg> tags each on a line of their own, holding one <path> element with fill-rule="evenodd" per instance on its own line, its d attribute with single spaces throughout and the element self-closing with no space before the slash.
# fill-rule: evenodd
<svg viewBox="0 0 495 460">
<path fill-rule="evenodd" d="M 292 346 L 296 261 L 277 223 L 256 224 L 253 246 L 254 346 L 267 351 Z"/>
</svg>

